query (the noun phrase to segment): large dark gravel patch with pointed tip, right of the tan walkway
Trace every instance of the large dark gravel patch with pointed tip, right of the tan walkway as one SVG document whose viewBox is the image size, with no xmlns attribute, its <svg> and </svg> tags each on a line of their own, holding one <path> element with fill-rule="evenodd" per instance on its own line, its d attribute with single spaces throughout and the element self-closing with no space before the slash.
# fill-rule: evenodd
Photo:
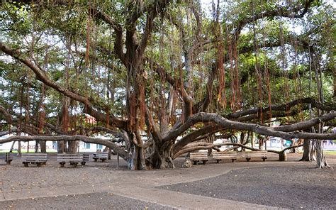
<svg viewBox="0 0 336 210">
<path fill-rule="evenodd" d="M 160 188 L 289 209 L 336 209 L 335 170 L 318 170 L 314 167 L 247 168 L 197 182 Z"/>
</svg>

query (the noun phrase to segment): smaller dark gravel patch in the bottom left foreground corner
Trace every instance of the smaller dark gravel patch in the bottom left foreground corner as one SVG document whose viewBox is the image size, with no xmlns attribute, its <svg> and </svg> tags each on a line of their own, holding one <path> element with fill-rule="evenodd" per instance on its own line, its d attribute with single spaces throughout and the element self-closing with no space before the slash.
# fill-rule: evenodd
<svg viewBox="0 0 336 210">
<path fill-rule="evenodd" d="M 0 206 L 0 209 L 172 209 L 106 192 L 2 201 Z"/>
</svg>

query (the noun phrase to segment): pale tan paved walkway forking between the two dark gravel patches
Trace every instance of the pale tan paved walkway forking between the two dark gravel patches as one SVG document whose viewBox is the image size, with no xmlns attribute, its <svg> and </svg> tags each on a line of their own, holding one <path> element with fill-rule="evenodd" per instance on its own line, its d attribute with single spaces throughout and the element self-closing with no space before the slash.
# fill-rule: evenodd
<svg viewBox="0 0 336 210">
<path fill-rule="evenodd" d="M 330 161 L 336 162 L 335 159 Z M 151 171 L 111 170 L 108 167 L 101 167 L 99 163 L 90 164 L 78 168 L 61 169 L 55 164 L 27 168 L 20 165 L 19 160 L 14 160 L 13 165 L 0 165 L 0 205 L 1 201 L 17 199 L 108 192 L 176 209 L 279 209 L 273 206 L 173 192 L 156 187 L 207 179 L 243 168 L 311 165 L 312 163 L 225 162 L 196 165 L 188 169 Z"/>
</svg>

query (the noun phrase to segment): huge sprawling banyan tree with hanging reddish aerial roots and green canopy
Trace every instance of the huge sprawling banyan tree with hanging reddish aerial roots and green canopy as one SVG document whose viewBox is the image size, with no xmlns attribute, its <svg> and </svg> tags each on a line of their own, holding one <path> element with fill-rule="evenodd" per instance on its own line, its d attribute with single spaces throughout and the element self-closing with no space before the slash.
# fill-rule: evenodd
<svg viewBox="0 0 336 210">
<path fill-rule="evenodd" d="M 139 170 L 218 150 L 217 138 L 239 134 L 224 144 L 240 147 L 278 136 L 303 139 L 303 160 L 315 154 L 328 167 L 334 9 L 313 0 L 3 1 L 0 129 L 14 136 L 0 143 L 37 140 L 45 150 L 55 140 L 59 153 L 99 143 Z"/>
</svg>

